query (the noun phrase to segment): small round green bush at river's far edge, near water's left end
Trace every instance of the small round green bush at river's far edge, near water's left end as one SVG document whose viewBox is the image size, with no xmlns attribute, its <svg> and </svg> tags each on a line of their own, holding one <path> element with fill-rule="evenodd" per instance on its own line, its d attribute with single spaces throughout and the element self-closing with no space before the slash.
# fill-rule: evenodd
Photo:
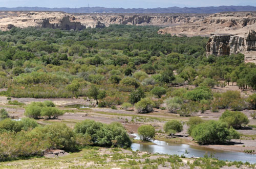
<svg viewBox="0 0 256 169">
<path fill-rule="evenodd" d="M 154 139 L 156 135 L 156 130 L 151 125 L 142 125 L 138 129 L 138 134 L 140 135 L 140 139 L 144 141 L 149 141 Z"/>
</svg>

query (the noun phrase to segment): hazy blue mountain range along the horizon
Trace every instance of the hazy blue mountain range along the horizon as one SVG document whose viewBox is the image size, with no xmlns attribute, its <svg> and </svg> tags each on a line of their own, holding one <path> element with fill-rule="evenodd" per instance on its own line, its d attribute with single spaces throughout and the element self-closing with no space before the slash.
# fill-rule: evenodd
<svg viewBox="0 0 256 169">
<path fill-rule="evenodd" d="M 253 6 L 219 6 L 219 7 L 197 7 L 197 8 L 104 8 L 104 7 L 83 7 L 83 8 L 41 8 L 41 7 L 17 7 L 4 8 L 0 11 L 62 11 L 67 13 L 197 13 L 211 14 L 219 12 L 241 12 L 241 11 L 256 11 Z"/>
</svg>

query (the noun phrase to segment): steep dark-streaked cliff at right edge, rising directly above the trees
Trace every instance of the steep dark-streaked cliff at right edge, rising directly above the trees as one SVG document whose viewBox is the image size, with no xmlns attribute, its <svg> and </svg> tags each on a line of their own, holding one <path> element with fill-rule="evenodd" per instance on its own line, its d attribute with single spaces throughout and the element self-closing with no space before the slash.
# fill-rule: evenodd
<svg viewBox="0 0 256 169">
<path fill-rule="evenodd" d="M 246 61 L 256 61 L 256 32 L 239 35 L 214 35 L 206 44 L 206 56 L 224 56 L 242 53 Z"/>
</svg>

